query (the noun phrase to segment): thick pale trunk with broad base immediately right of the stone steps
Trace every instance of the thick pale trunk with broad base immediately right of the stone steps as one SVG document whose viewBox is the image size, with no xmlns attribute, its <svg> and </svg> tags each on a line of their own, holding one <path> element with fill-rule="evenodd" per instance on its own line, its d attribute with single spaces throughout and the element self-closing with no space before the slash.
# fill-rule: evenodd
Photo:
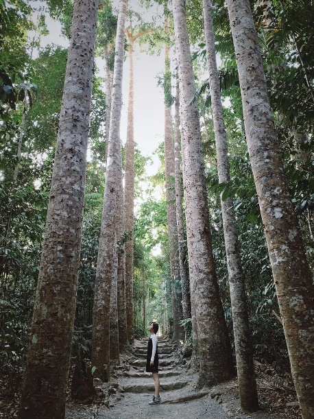
<svg viewBox="0 0 314 419">
<path fill-rule="evenodd" d="M 190 104 L 195 80 L 184 0 L 173 1 L 173 18 L 178 51 L 191 304 L 195 305 L 200 354 L 199 384 L 212 385 L 232 376 L 232 356 L 211 246 L 200 119 L 196 104 Z"/>
</svg>

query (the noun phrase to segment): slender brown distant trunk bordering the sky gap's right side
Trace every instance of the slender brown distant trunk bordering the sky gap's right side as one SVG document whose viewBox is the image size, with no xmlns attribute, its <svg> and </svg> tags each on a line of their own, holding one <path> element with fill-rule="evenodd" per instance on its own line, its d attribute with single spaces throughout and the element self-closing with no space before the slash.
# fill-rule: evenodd
<svg viewBox="0 0 314 419">
<path fill-rule="evenodd" d="M 167 25 L 166 25 L 167 29 Z M 173 340 L 184 338 L 184 328 L 180 326 L 182 314 L 182 291 L 180 278 L 180 262 L 178 257 L 178 229 L 176 216 L 176 190 L 173 179 L 174 169 L 174 145 L 172 137 L 171 104 L 168 95 L 171 95 L 171 73 L 169 61 L 169 48 L 165 46 L 165 171 L 166 171 L 166 197 L 167 197 L 167 221 L 169 237 L 169 258 L 171 272 L 171 293 L 173 311 Z"/>
</svg>

